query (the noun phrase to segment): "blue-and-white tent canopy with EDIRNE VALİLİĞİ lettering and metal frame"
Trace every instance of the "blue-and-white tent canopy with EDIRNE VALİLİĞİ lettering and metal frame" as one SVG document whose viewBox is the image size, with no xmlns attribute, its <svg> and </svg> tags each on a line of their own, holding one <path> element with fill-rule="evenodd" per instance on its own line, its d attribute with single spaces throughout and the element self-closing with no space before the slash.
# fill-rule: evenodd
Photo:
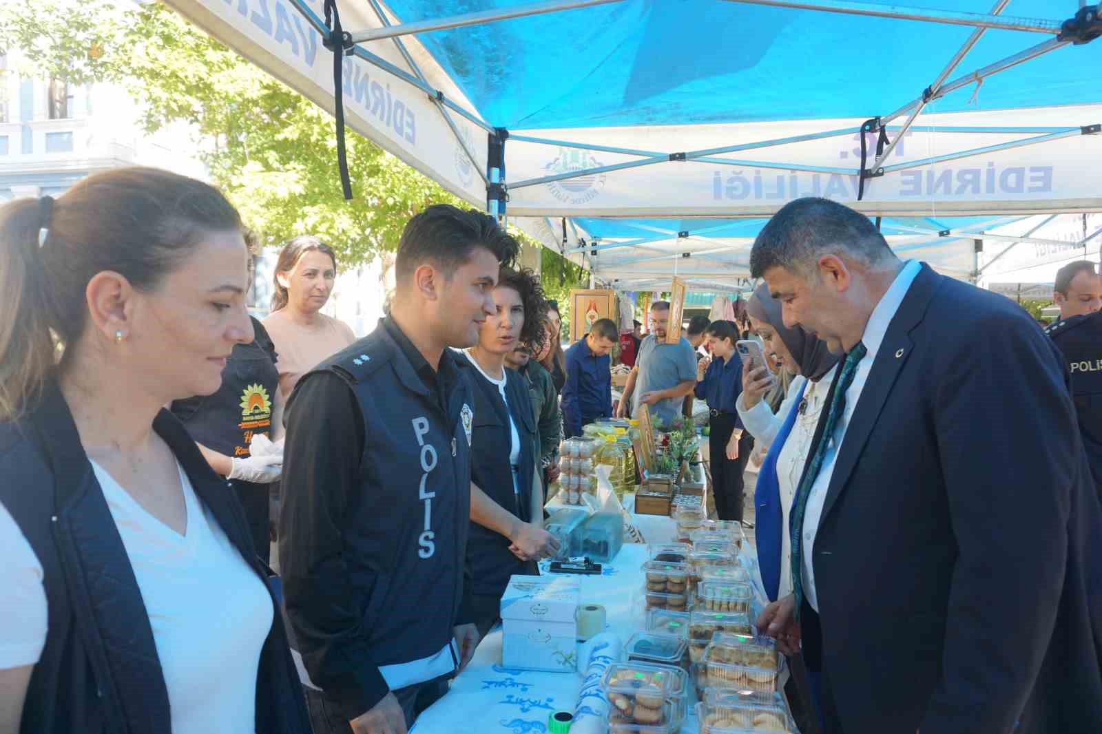
<svg viewBox="0 0 1102 734">
<path fill-rule="evenodd" d="M 806 195 L 961 278 L 975 240 L 1028 241 L 1001 227 L 1102 211 L 1102 6 L 168 1 L 623 290 L 745 288 L 756 229 Z"/>
</svg>

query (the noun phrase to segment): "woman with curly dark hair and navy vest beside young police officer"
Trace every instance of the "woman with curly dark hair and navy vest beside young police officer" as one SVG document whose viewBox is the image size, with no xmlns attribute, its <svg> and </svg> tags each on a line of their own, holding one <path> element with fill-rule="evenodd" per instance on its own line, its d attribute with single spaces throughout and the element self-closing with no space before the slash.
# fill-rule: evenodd
<svg viewBox="0 0 1102 734">
<path fill-rule="evenodd" d="M 506 357 L 518 344 L 528 344 L 533 352 L 543 346 L 543 291 L 532 271 L 501 268 L 494 303 L 496 313 L 483 324 L 478 344 L 457 360 L 468 368 L 475 385 L 467 540 L 471 594 L 460 617 L 473 620 L 479 637 L 499 617 L 509 576 L 539 575 L 539 558 L 521 553 L 517 540 L 536 538 L 540 557 L 558 550 L 554 537 L 543 530 L 539 438 L 528 384 L 506 367 Z"/>
</svg>

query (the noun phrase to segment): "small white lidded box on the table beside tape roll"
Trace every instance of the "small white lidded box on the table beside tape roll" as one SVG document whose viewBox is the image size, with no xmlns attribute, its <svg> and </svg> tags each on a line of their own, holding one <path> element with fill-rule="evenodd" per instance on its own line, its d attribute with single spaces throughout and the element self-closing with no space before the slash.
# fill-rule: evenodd
<svg viewBox="0 0 1102 734">
<path fill-rule="evenodd" d="M 520 670 L 577 669 L 579 581 L 512 576 L 501 595 L 501 665 Z"/>
</svg>

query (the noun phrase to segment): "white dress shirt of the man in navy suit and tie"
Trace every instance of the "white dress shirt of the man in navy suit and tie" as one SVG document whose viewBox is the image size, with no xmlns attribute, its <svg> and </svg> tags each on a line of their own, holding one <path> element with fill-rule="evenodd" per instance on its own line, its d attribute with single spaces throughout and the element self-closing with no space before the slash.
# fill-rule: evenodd
<svg viewBox="0 0 1102 734">
<path fill-rule="evenodd" d="M 819 596 L 815 594 L 815 573 L 811 560 L 814 558 L 815 535 L 819 531 L 819 521 L 822 519 L 823 504 L 827 500 L 827 489 L 830 487 L 831 476 L 834 474 L 838 451 L 845 440 L 845 430 L 849 428 L 853 412 L 857 408 L 857 401 L 861 400 L 861 392 L 868 380 L 868 373 L 873 369 L 873 363 L 876 361 L 876 353 L 879 352 L 880 344 L 884 343 L 884 336 L 887 334 L 888 326 L 892 324 L 892 320 L 907 295 L 910 284 L 915 281 L 921 269 L 922 265 L 918 260 L 909 260 L 873 310 L 873 314 L 868 317 L 868 323 L 865 324 L 865 333 L 861 337 L 866 349 L 865 356 L 857 363 L 857 371 L 853 377 L 853 382 L 850 385 L 850 389 L 845 391 L 845 410 L 834 425 L 834 434 L 832 436 L 824 435 L 822 439 L 830 443 L 827 445 L 823 463 L 819 468 L 819 476 L 815 477 L 815 483 L 811 485 L 811 494 L 808 496 L 808 505 L 803 514 L 803 528 L 801 529 L 801 532 L 803 532 L 803 555 L 801 559 L 803 564 L 803 595 L 808 600 L 808 604 L 815 612 L 819 611 Z M 840 361 L 839 365 L 844 365 L 844 361 Z"/>
</svg>

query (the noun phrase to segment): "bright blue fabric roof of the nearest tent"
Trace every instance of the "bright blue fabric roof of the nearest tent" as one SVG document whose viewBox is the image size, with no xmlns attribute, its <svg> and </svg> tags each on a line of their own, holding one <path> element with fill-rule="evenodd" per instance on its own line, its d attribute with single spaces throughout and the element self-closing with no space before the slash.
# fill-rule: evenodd
<svg viewBox="0 0 1102 734">
<path fill-rule="evenodd" d="M 393 0 L 404 22 L 515 0 Z M 985 13 L 992 0 L 906 4 Z M 1016 0 L 1014 15 L 1066 20 L 1076 2 Z M 971 28 L 716 0 L 633 1 L 419 35 L 494 127 L 592 128 L 813 118 L 862 119 L 920 95 Z M 969 53 L 985 66 L 1044 37 L 991 30 Z M 1102 44 L 1100 44 L 1102 46 Z M 1070 50 L 985 82 L 985 109 L 1102 100 L 1089 69 L 1102 47 Z M 963 71 L 963 69 L 962 69 Z M 968 94 L 938 111 L 971 109 Z"/>
</svg>

